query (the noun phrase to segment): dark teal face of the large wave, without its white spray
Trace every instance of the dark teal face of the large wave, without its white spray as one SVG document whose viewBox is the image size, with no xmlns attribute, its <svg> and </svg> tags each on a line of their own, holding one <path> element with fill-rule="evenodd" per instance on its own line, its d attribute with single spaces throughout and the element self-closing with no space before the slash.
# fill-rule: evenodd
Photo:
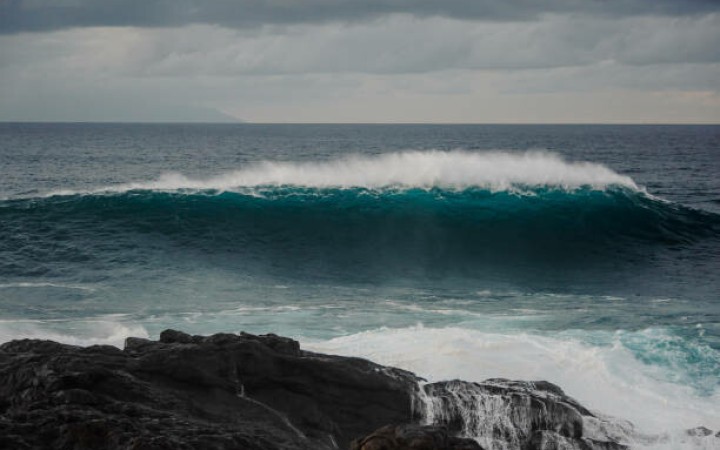
<svg viewBox="0 0 720 450">
<path fill-rule="evenodd" d="M 0 202 L 0 221 L 0 273 L 8 277 L 53 277 L 67 264 L 142 265 L 181 251 L 216 255 L 244 273 L 376 279 L 511 271 L 522 279 L 539 270 L 637 264 L 649 247 L 716 245 L 720 237 L 719 216 L 622 187 L 532 195 L 128 191 Z"/>
</svg>

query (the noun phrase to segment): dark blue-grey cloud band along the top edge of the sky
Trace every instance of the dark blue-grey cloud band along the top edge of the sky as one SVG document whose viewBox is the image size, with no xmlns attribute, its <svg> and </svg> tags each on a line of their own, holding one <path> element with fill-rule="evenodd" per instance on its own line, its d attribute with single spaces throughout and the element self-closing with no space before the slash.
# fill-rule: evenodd
<svg viewBox="0 0 720 450">
<path fill-rule="evenodd" d="M 718 0 L 0 0 L 0 33 L 87 26 L 240 28 L 388 14 L 504 21 L 544 13 L 688 15 L 718 10 Z"/>
</svg>

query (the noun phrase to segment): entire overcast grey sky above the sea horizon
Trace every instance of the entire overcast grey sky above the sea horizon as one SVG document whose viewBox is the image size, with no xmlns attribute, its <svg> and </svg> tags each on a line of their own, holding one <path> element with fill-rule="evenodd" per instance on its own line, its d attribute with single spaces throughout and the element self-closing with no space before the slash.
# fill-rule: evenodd
<svg viewBox="0 0 720 450">
<path fill-rule="evenodd" d="M 0 120 L 720 123 L 720 0 L 0 0 Z"/>
</svg>

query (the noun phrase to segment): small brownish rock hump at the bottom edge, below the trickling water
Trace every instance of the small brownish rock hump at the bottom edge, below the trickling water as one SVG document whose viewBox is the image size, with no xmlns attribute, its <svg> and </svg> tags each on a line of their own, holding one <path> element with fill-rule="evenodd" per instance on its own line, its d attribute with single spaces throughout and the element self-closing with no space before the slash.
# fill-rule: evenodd
<svg viewBox="0 0 720 450">
<path fill-rule="evenodd" d="M 444 427 L 387 425 L 350 444 L 350 450 L 483 450 L 472 439 L 448 434 Z"/>
</svg>

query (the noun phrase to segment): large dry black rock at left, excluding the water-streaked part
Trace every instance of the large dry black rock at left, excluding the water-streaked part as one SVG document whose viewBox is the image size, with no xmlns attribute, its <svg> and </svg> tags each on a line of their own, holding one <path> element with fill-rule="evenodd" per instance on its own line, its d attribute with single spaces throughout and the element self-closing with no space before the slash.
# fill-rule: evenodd
<svg viewBox="0 0 720 450">
<path fill-rule="evenodd" d="M 347 447 L 412 419 L 416 378 L 275 335 L 129 338 L 124 351 L 0 346 L 0 447 Z"/>
</svg>

